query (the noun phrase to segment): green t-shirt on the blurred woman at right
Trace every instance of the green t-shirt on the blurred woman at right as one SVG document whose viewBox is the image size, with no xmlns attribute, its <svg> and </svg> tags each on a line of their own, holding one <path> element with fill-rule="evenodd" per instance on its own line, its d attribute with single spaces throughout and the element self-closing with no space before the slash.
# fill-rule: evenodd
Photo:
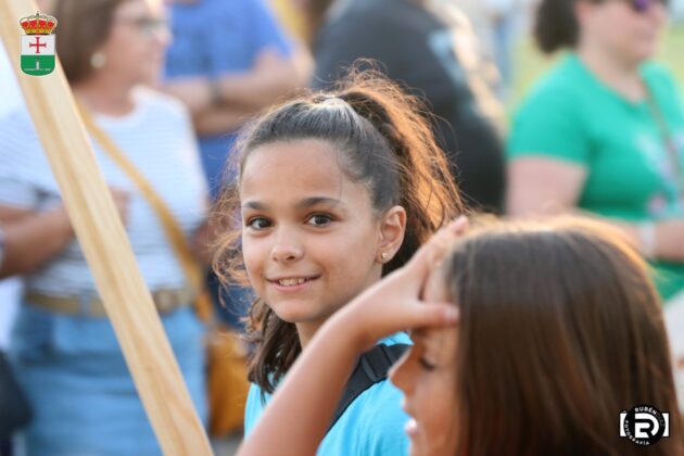
<svg viewBox="0 0 684 456">
<path fill-rule="evenodd" d="M 648 101 L 633 102 L 598 80 L 575 54 L 562 59 L 517 112 L 508 159 L 543 155 L 584 166 L 578 206 L 628 221 L 684 218 L 684 106 L 664 68 L 642 75 L 667 124 L 677 157 Z M 684 242 L 684 232 L 682 233 Z M 684 263 L 654 262 L 664 300 L 684 291 Z"/>
</svg>

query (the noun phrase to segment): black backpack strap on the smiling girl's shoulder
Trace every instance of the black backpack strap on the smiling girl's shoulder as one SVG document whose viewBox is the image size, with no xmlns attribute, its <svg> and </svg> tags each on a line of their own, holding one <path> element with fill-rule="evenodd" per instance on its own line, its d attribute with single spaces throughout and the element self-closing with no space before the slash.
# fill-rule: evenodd
<svg viewBox="0 0 684 456">
<path fill-rule="evenodd" d="M 338 419 L 340 419 L 356 397 L 373 384 L 388 378 L 390 367 L 402 357 L 408 347 L 409 345 L 403 343 L 394 345 L 381 343 L 360 355 L 352 372 L 352 377 L 350 377 L 350 380 L 346 382 L 344 394 L 338 404 L 338 408 L 334 410 L 328 431 L 332 429 L 334 423 L 338 422 Z"/>
</svg>

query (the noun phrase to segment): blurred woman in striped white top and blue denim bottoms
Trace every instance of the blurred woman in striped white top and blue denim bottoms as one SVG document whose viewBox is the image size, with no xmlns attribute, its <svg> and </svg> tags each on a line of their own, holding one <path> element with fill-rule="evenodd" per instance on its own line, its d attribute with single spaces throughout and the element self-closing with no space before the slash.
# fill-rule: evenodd
<svg viewBox="0 0 684 456">
<path fill-rule="evenodd" d="M 58 55 L 75 98 L 162 197 L 190 238 L 206 188 L 179 103 L 141 87 L 155 80 L 169 35 L 154 0 L 60 0 Z M 25 113 L 0 123 L 0 223 L 4 273 L 26 286 L 12 356 L 35 419 L 29 455 L 159 454 L 154 434 L 106 318 L 60 191 Z M 200 415 L 203 328 L 162 224 L 138 187 L 93 141 L 142 276 Z"/>
</svg>

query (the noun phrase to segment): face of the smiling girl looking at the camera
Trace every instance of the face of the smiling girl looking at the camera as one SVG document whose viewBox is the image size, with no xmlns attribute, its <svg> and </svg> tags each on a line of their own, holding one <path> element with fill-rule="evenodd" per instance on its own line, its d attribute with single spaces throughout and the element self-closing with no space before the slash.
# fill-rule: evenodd
<svg viewBox="0 0 684 456">
<path fill-rule="evenodd" d="M 380 279 L 382 252 L 391 258 L 403 237 L 396 208 L 376 216 L 367 188 L 345 176 L 322 141 L 253 150 L 240 201 L 251 284 L 278 317 L 296 324 L 303 343 Z"/>
</svg>

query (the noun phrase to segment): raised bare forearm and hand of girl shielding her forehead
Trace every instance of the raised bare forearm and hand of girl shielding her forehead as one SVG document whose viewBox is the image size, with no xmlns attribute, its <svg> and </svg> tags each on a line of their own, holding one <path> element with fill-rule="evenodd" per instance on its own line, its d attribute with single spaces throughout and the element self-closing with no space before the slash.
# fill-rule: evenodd
<svg viewBox="0 0 684 456">
<path fill-rule="evenodd" d="M 465 227 L 461 218 L 442 229 L 405 267 L 366 290 L 317 331 L 238 456 L 316 454 L 360 353 L 404 329 L 456 324 L 454 305 L 425 303 L 420 294 L 444 245 Z"/>
</svg>

